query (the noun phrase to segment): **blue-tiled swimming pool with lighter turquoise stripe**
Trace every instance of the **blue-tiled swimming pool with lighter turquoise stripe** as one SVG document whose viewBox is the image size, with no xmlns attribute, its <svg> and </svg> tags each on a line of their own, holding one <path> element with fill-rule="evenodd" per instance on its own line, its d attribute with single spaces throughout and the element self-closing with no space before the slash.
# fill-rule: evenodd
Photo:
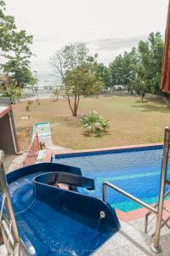
<svg viewBox="0 0 170 256">
<path fill-rule="evenodd" d="M 109 181 L 146 203 L 155 203 L 161 175 L 162 146 L 116 149 L 78 154 L 59 154 L 55 163 L 81 168 L 82 175 L 93 178 L 95 189 L 80 189 L 86 195 L 102 197 L 102 183 Z M 170 165 L 168 165 L 170 171 Z M 167 172 L 167 177 L 170 173 Z M 138 204 L 108 189 L 107 201 L 123 212 L 140 208 Z"/>
</svg>

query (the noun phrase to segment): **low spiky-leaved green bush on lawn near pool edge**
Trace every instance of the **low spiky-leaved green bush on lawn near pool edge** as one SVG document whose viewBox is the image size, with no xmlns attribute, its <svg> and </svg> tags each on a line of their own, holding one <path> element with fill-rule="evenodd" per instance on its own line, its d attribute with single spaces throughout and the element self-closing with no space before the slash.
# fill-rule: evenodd
<svg viewBox="0 0 170 256">
<path fill-rule="evenodd" d="M 82 118 L 82 125 L 87 135 L 103 135 L 109 128 L 109 120 L 99 115 L 96 111 L 91 111 L 88 116 Z"/>
</svg>

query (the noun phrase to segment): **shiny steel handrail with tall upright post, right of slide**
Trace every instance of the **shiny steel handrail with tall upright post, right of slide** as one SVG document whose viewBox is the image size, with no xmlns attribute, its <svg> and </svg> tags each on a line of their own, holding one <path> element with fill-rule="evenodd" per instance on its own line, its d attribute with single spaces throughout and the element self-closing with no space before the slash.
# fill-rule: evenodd
<svg viewBox="0 0 170 256">
<path fill-rule="evenodd" d="M 105 182 L 103 183 L 103 200 L 106 201 L 106 188 L 107 186 L 111 189 L 116 190 L 117 192 L 121 193 L 122 195 L 127 196 L 129 199 L 139 203 L 139 205 L 149 209 L 151 212 L 156 214 L 156 231 L 154 236 L 154 241 L 151 244 L 151 249 L 154 253 L 161 253 L 161 246 L 160 246 L 160 236 L 161 236 L 161 219 L 162 219 L 162 212 L 163 212 L 163 202 L 164 202 L 164 195 L 165 195 L 165 186 L 166 183 L 169 185 L 170 183 L 167 181 L 167 162 L 168 162 L 168 154 L 169 154 L 169 141 L 170 141 L 170 126 L 165 127 L 164 132 L 164 143 L 163 143 L 163 157 L 161 163 L 161 183 L 160 183 L 160 193 L 159 193 L 159 200 L 156 210 L 155 207 L 151 207 L 150 205 L 146 204 L 144 201 L 139 200 L 137 197 L 127 193 L 126 191 L 116 187 L 114 184 Z"/>
</svg>

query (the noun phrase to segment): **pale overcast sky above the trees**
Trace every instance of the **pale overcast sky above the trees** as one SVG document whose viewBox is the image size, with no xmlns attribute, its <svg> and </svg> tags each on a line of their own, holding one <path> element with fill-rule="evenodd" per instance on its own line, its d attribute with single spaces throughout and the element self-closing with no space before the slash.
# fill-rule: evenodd
<svg viewBox="0 0 170 256">
<path fill-rule="evenodd" d="M 33 35 L 31 68 L 39 83 L 52 83 L 49 58 L 74 42 L 108 65 L 150 32 L 164 35 L 168 0 L 6 0 L 8 15 Z"/>
</svg>

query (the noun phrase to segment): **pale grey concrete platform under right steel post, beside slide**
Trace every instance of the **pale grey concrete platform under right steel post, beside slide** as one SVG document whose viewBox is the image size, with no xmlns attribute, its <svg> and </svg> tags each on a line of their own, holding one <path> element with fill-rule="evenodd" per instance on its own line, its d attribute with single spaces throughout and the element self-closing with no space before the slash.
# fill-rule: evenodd
<svg viewBox="0 0 170 256">
<path fill-rule="evenodd" d="M 166 247 L 166 237 L 164 238 L 164 247 L 162 253 L 156 254 L 150 250 L 151 237 L 145 235 L 144 232 L 136 230 L 131 225 L 121 222 L 121 229 L 112 236 L 109 241 L 100 247 L 94 256 L 144 256 L 144 255 L 160 255 L 169 256 L 170 248 Z M 168 240 L 169 242 L 169 240 Z M 168 244 L 167 242 L 167 244 Z M 167 253 L 168 252 L 168 253 Z"/>
</svg>

